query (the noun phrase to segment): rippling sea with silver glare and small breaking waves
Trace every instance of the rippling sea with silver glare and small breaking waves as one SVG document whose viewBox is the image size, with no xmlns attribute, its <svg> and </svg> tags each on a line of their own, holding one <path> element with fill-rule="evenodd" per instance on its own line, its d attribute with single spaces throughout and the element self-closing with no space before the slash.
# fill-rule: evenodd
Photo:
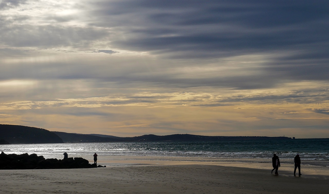
<svg viewBox="0 0 329 194">
<path fill-rule="evenodd" d="M 97 152 L 99 156 L 170 156 L 193 157 L 226 161 L 271 163 L 273 153 L 281 162 L 293 163 L 299 153 L 304 165 L 329 167 L 329 138 L 291 140 L 244 140 L 209 142 L 106 142 L 106 143 L 62 143 L 62 144 L 12 144 L 0 145 L 6 154 L 36 153 L 45 158 L 83 157 Z"/>
</svg>

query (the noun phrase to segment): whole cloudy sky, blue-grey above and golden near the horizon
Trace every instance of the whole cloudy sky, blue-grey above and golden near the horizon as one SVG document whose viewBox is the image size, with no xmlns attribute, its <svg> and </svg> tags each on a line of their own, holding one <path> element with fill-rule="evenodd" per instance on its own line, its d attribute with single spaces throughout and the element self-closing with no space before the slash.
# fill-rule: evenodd
<svg viewBox="0 0 329 194">
<path fill-rule="evenodd" d="M 329 138 L 329 1 L 0 0 L 0 124 Z"/>
</svg>

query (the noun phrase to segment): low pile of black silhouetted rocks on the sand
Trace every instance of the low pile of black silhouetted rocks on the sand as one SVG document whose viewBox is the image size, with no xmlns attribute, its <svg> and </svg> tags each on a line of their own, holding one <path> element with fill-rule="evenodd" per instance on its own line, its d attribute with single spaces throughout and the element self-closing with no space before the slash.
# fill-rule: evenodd
<svg viewBox="0 0 329 194">
<path fill-rule="evenodd" d="M 0 170 L 13 169 L 70 169 L 70 168 L 97 168 L 106 167 L 96 164 L 89 164 L 89 161 L 82 157 L 70 157 L 66 159 L 47 158 L 35 153 L 28 154 L 0 154 Z"/>
</svg>

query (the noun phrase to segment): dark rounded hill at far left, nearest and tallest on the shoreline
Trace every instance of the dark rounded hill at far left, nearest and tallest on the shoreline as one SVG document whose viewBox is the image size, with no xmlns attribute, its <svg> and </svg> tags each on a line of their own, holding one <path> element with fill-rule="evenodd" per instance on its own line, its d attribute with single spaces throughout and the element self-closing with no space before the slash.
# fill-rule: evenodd
<svg viewBox="0 0 329 194">
<path fill-rule="evenodd" d="M 10 144 L 63 143 L 63 140 L 46 129 L 0 124 L 0 139 Z"/>
</svg>

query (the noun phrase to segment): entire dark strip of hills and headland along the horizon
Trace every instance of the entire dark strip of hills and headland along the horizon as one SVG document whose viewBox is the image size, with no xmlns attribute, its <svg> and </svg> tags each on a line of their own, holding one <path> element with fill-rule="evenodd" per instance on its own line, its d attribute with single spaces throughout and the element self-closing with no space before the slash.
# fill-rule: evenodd
<svg viewBox="0 0 329 194">
<path fill-rule="evenodd" d="M 191 134 L 142 135 L 136 137 L 116 137 L 101 134 L 78 134 L 22 126 L 1 125 L 0 144 L 42 144 L 42 143 L 81 143 L 81 142 L 142 142 L 142 141 L 242 141 L 242 140 L 283 140 L 291 137 L 266 136 L 204 136 Z"/>
</svg>

